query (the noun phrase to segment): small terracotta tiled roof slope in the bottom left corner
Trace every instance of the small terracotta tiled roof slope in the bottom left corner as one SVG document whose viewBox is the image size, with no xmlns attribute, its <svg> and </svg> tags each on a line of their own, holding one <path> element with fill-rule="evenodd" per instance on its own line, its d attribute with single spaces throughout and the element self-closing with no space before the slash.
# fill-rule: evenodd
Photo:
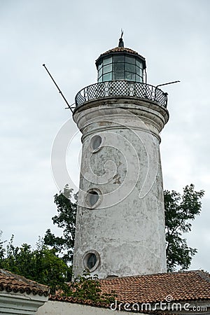
<svg viewBox="0 0 210 315">
<path fill-rule="evenodd" d="M 33 295 L 48 296 L 48 286 L 43 286 L 35 281 L 26 279 L 24 276 L 13 274 L 4 269 L 0 269 L 0 291 L 13 291 L 14 293 L 32 293 Z"/>
</svg>

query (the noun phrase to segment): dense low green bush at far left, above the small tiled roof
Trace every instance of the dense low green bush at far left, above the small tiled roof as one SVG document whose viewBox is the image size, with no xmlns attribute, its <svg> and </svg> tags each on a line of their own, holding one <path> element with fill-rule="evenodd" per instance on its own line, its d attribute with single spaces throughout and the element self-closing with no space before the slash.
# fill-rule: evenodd
<svg viewBox="0 0 210 315">
<path fill-rule="evenodd" d="M 0 268 L 50 286 L 51 293 L 55 293 L 57 288 L 65 288 L 66 281 L 71 279 L 68 278 L 71 274 L 70 268 L 57 257 L 55 249 L 47 248 L 42 239 L 38 239 L 34 250 L 28 244 L 14 246 L 13 239 L 14 236 L 11 237 L 6 249 L 3 249 Z"/>
</svg>

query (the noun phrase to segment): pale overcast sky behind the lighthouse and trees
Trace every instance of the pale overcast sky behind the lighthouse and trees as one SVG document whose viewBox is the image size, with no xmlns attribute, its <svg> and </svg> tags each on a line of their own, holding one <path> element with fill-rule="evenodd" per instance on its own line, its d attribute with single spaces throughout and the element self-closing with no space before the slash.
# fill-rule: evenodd
<svg viewBox="0 0 210 315">
<path fill-rule="evenodd" d="M 148 83 L 181 83 L 169 93 L 169 123 L 160 146 L 165 189 L 204 189 L 202 214 L 187 236 L 198 249 L 190 269 L 209 271 L 210 261 L 210 1 L 209 0 L 0 0 L 1 32 L 1 224 L 3 239 L 35 245 L 56 214 L 50 155 L 71 112 L 64 110 L 45 63 L 69 103 L 97 82 L 95 59 L 118 45 L 146 57 Z M 77 129 L 69 120 L 69 134 Z M 67 160 L 78 183 L 80 134 Z"/>
</svg>

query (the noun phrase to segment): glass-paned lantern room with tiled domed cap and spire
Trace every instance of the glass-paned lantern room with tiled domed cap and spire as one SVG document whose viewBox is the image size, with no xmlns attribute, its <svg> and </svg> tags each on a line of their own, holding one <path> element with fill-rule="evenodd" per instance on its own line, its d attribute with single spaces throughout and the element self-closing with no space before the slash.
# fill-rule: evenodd
<svg viewBox="0 0 210 315">
<path fill-rule="evenodd" d="M 96 60 L 98 83 L 111 80 L 144 82 L 146 60 L 130 48 L 124 48 L 123 38 L 116 48 L 104 52 Z"/>
</svg>

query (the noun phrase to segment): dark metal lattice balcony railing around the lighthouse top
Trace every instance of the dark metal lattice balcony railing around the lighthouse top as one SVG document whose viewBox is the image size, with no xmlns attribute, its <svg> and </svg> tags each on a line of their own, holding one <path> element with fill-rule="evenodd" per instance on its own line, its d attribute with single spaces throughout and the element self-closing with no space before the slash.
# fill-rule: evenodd
<svg viewBox="0 0 210 315">
<path fill-rule="evenodd" d="M 167 93 L 153 85 L 131 81 L 107 81 L 84 87 L 75 97 L 76 106 L 94 99 L 106 97 L 133 97 L 134 99 L 148 99 L 167 108 Z"/>
</svg>

